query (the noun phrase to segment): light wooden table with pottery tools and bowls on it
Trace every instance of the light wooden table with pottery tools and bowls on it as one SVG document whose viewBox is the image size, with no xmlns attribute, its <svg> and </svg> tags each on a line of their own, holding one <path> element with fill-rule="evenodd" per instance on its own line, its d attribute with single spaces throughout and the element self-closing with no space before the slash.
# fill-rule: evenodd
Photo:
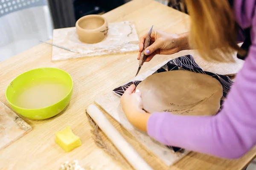
<svg viewBox="0 0 256 170">
<path fill-rule="evenodd" d="M 172 33 L 182 33 L 188 31 L 189 28 L 189 16 L 151 0 L 133 0 L 104 14 L 104 16 L 109 23 L 133 20 L 139 36 L 148 32 L 152 24 L 154 24 L 155 29 Z M 21 116 L 33 127 L 33 130 L 0 151 L 0 169 L 57 170 L 64 161 L 73 161 L 74 159 L 79 160 L 82 166 L 91 170 L 132 169 L 128 163 L 120 164 L 114 161 L 96 146 L 91 138 L 91 127 L 84 111 L 96 97 L 113 90 L 113 88 L 134 77 L 138 68 L 137 53 L 52 62 L 51 51 L 51 46 L 41 44 L 0 62 L 0 101 L 7 106 L 10 105 L 5 99 L 6 87 L 12 79 L 24 71 L 39 67 L 56 67 L 67 71 L 74 80 L 73 97 L 66 111 L 47 120 L 31 120 Z M 232 72 L 232 69 L 237 69 L 236 65 L 229 65 L 230 67 L 227 68 L 221 65 L 223 69 L 219 69 L 216 67 L 217 65 L 200 59 L 195 51 L 182 51 L 170 56 L 154 57 L 151 62 L 144 64 L 140 73 L 168 58 L 185 54 L 194 54 L 198 64 L 205 70 L 222 71 L 223 74 L 230 74 L 230 70 Z M 144 150 L 126 130 L 108 115 L 106 116 L 148 164 L 156 170 L 239 170 L 256 155 L 256 148 L 238 160 L 220 159 L 191 152 L 174 166 L 166 167 L 154 155 Z M 73 132 L 80 136 L 82 141 L 81 147 L 69 153 L 65 153 L 54 142 L 55 132 L 67 125 L 70 125 Z M 103 138 L 109 142 L 105 136 Z M 112 148 L 117 151 L 113 146 Z"/>
</svg>

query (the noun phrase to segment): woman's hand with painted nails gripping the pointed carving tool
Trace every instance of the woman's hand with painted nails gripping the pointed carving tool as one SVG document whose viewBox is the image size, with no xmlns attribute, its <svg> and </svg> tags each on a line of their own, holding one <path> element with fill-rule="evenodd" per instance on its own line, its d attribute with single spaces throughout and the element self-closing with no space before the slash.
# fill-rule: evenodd
<svg viewBox="0 0 256 170">
<path fill-rule="evenodd" d="M 143 51 L 144 42 L 147 34 L 144 34 L 140 37 L 140 52 L 138 54 L 138 59 L 140 59 L 140 55 L 144 52 L 147 55 L 145 62 L 149 62 L 156 54 L 174 54 L 181 50 L 189 49 L 188 45 L 188 33 L 183 34 L 168 34 L 162 31 L 152 31 L 151 32 L 151 42 Z"/>
</svg>

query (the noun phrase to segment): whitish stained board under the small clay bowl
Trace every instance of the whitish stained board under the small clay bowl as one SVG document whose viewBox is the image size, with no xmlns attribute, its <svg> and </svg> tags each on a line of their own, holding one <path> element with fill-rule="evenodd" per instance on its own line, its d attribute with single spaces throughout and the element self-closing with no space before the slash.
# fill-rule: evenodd
<svg viewBox="0 0 256 170">
<path fill-rule="evenodd" d="M 53 44 L 77 53 L 52 46 L 52 60 L 74 59 L 138 51 L 139 37 L 131 21 L 108 24 L 108 36 L 102 42 L 86 44 L 79 40 L 76 27 L 53 30 Z"/>
</svg>

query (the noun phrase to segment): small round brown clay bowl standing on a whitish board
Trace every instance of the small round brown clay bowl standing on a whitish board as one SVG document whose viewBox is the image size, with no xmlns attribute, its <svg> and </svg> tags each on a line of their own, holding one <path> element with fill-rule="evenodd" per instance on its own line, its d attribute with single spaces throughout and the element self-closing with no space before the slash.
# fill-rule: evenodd
<svg viewBox="0 0 256 170">
<path fill-rule="evenodd" d="M 86 15 L 76 21 L 76 33 L 81 42 L 101 42 L 108 34 L 108 21 L 101 15 Z"/>
</svg>

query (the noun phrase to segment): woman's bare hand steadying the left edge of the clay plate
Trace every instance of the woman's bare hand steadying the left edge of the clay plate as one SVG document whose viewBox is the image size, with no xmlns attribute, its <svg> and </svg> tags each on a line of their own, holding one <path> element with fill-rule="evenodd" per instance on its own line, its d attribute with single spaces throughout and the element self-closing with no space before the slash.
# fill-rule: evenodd
<svg viewBox="0 0 256 170">
<path fill-rule="evenodd" d="M 147 131 L 147 122 L 150 114 L 143 110 L 140 91 L 135 91 L 135 88 L 135 85 L 131 85 L 126 89 L 120 102 L 128 121 L 134 127 Z"/>
</svg>

